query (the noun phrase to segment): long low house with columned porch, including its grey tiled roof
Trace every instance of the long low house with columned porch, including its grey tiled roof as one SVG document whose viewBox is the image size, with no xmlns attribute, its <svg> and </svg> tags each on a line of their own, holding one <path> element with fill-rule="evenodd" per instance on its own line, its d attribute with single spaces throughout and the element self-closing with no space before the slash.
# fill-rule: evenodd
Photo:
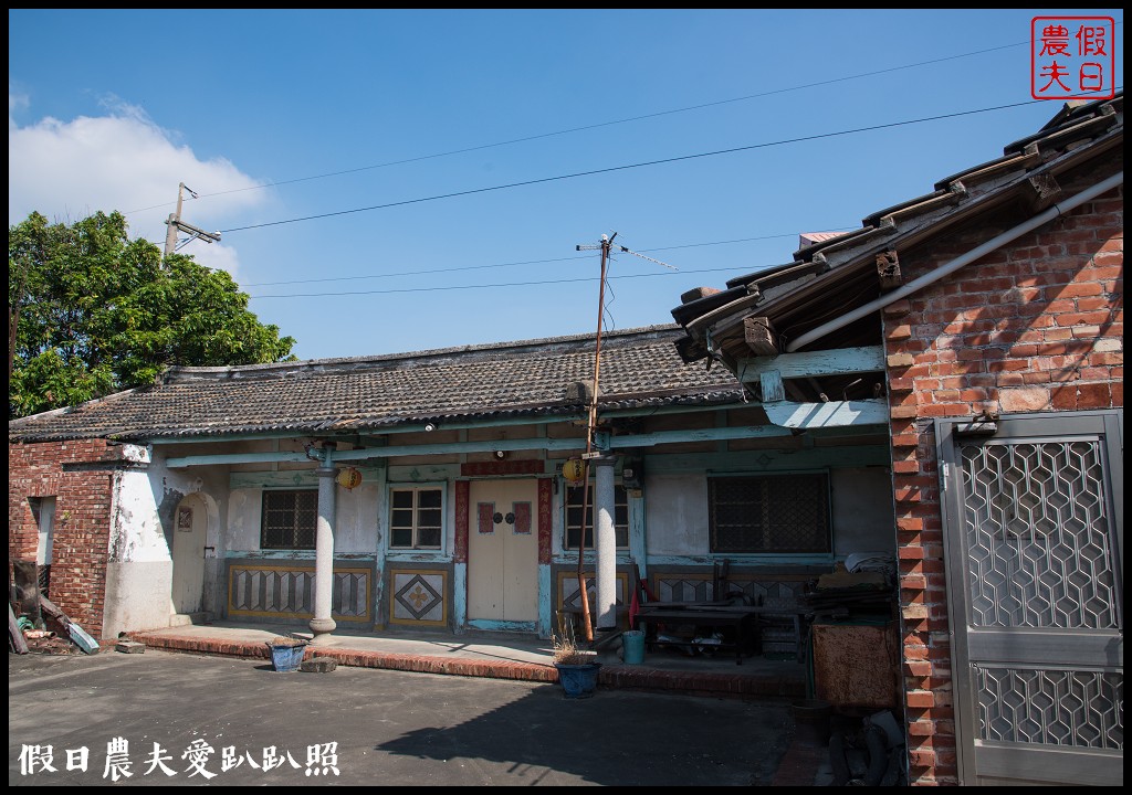
<svg viewBox="0 0 1132 795">
<path fill-rule="evenodd" d="M 774 426 L 731 373 L 684 364 L 679 334 L 602 344 L 588 504 L 604 467 L 618 620 L 634 565 L 662 598 L 704 599 L 727 560 L 730 587 L 794 605 L 847 554 L 894 555 L 883 427 Z M 53 503 L 49 594 L 106 639 L 200 613 L 315 622 L 319 579 L 331 629 L 548 637 L 578 599 L 583 495 L 563 464 L 586 449 L 594 348 L 580 336 L 186 368 L 14 421 L 10 559 L 34 556 L 35 508 Z M 789 502 L 792 536 L 713 519 L 747 486 Z"/>
</svg>

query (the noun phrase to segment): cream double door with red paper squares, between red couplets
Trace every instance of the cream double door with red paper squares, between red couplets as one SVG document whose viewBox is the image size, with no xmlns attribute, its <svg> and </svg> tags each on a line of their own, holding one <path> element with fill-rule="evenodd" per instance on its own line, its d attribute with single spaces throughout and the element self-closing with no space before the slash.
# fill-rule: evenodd
<svg viewBox="0 0 1132 795">
<path fill-rule="evenodd" d="M 538 481 L 475 481 L 470 498 L 468 617 L 535 621 Z"/>
</svg>

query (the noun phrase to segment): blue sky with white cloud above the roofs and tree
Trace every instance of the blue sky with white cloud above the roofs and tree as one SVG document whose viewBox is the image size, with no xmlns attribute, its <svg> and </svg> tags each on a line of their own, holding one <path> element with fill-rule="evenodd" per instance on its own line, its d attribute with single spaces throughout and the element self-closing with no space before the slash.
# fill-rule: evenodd
<svg viewBox="0 0 1132 795">
<path fill-rule="evenodd" d="M 1037 131 L 1035 16 L 1113 17 L 1123 87 L 1121 9 L 9 9 L 9 224 L 163 245 L 183 182 L 300 358 L 592 334 L 614 232 L 677 270 L 618 254 L 604 327 L 668 323 Z"/>
</svg>

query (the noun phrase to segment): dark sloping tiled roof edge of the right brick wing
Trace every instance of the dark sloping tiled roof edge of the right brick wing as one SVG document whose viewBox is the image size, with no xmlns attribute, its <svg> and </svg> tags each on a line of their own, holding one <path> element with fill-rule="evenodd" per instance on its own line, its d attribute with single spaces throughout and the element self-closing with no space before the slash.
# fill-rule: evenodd
<svg viewBox="0 0 1132 795">
<path fill-rule="evenodd" d="M 798 338 L 835 312 L 848 313 L 876 297 L 877 254 L 921 245 L 1022 196 L 1041 200 L 1046 184 L 1055 185 L 1060 174 L 1089 159 L 1108 158 L 1120 168 L 1123 111 L 1123 92 L 1110 100 L 1067 104 L 1041 130 L 1005 146 L 1002 157 L 936 182 L 931 193 L 873 213 L 858 230 L 801 235 L 803 248 L 792 262 L 737 276 L 723 292 L 703 291 L 704 297 L 685 300 L 671 311 L 687 331 L 676 343 L 680 356 L 694 362 L 711 355 L 734 369 L 738 358 L 753 355 L 744 340 L 745 318 L 764 317 Z M 875 335 L 875 325 L 858 322 L 822 345 L 872 345 Z"/>
</svg>

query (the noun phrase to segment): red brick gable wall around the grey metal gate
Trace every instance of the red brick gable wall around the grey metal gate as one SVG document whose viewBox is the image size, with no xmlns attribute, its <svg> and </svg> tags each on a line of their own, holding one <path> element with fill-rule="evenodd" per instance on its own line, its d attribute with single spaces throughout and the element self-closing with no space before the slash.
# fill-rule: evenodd
<svg viewBox="0 0 1132 795">
<path fill-rule="evenodd" d="M 900 252 L 904 280 L 1023 219 Z M 884 311 L 910 783 L 958 783 L 932 421 L 1123 407 L 1123 274 L 1122 187 Z"/>
</svg>

